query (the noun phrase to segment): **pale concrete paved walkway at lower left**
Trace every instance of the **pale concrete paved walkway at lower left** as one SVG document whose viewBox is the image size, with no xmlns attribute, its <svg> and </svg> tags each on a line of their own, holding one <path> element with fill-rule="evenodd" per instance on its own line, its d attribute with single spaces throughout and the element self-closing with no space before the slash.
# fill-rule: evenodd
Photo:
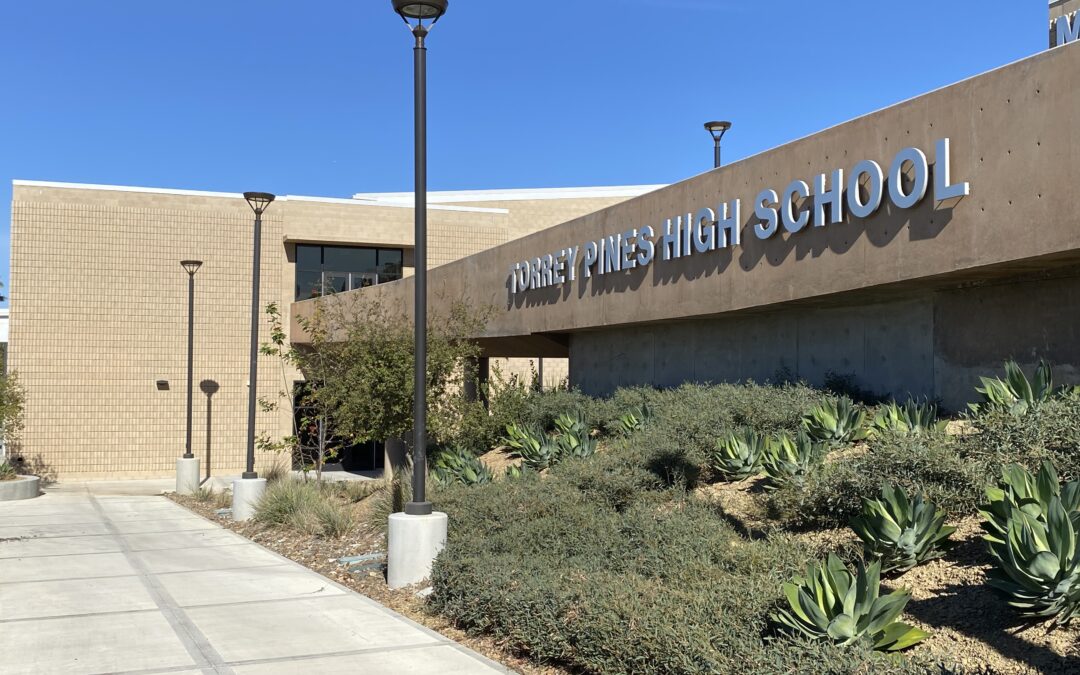
<svg viewBox="0 0 1080 675">
<path fill-rule="evenodd" d="M 164 497 L 103 491 L 125 490 L 0 502 L 0 673 L 507 672 Z"/>
</svg>

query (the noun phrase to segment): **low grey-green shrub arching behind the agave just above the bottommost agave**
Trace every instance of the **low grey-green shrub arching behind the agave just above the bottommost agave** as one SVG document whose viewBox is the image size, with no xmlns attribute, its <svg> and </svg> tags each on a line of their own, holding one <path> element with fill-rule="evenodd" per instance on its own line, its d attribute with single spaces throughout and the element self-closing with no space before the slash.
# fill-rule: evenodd
<svg viewBox="0 0 1080 675">
<path fill-rule="evenodd" d="M 962 517 L 975 513 L 988 480 L 985 464 L 962 456 L 951 437 L 890 436 L 873 440 L 865 454 L 826 461 L 802 486 L 770 494 L 768 511 L 788 527 L 842 527 L 882 482 L 922 492 L 949 516 Z"/>
</svg>

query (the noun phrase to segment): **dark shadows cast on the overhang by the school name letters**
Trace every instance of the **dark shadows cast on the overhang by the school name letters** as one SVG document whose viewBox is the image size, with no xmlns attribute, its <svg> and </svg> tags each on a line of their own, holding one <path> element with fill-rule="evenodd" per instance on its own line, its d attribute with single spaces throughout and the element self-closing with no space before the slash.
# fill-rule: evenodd
<svg viewBox="0 0 1080 675">
<path fill-rule="evenodd" d="M 932 170 L 930 180 L 933 180 Z M 886 179 L 882 192 L 889 194 L 889 180 Z M 866 195 L 863 195 L 865 201 Z M 744 210 L 747 207 L 744 204 Z M 798 204 L 801 211 L 809 212 L 811 225 L 806 226 L 799 232 L 787 232 L 783 226 L 779 227 L 778 233 L 771 238 L 761 240 L 754 233 L 754 227 L 759 222 L 753 214 L 753 205 L 750 205 L 751 217 L 743 224 L 741 232 L 741 244 L 739 246 L 739 267 L 744 272 L 750 272 L 758 267 L 762 261 L 772 267 L 780 267 L 787 264 L 792 254 L 796 261 L 807 258 L 820 257 L 825 251 L 842 255 L 855 245 L 860 238 L 865 237 L 874 246 L 881 248 L 896 239 L 905 228 L 908 232 L 908 241 L 924 241 L 936 238 L 953 220 L 953 208 L 939 208 L 934 204 L 933 197 L 928 194 L 917 206 L 913 208 L 897 208 L 886 197 L 881 206 L 870 218 L 854 218 L 850 212 L 845 213 L 843 220 L 835 225 L 814 227 L 812 225 L 814 212 L 814 199 L 810 197 Z M 659 226 L 659 227 L 658 227 Z M 653 224 L 653 229 L 658 232 L 662 229 L 660 224 Z M 634 268 L 622 272 L 609 272 L 602 276 L 591 276 L 588 281 L 578 270 L 578 281 L 566 282 L 557 286 L 548 288 L 537 288 L 511 294 L 510 279 L 507 279 L 507 309 L 522 309 L 523 307 L 542 307 L 568 300 L 573 293 L 572 286 L 577 284 L 578 298 L 583 298 L 586 293 L 597 296 L 612 293 L 623 293 L 625 291 L 636 291 L 651 274 L 653 286 L 663 286 L 678 281 L 693 281 L 721 274 L 728 270 L 735 259 L 733 248 L 719 248 L 707 253 L 694 252 L 689 257 L 677 260 L 660 260 L 660 247 L 657 246 L 657 258 L 648 267 Z"/>
</svg>

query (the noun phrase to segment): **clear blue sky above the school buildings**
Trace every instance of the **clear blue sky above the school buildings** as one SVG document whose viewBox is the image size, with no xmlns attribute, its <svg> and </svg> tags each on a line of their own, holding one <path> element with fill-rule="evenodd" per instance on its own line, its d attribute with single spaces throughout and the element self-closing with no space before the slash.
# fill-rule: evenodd
<svg viewBox="0 0 1080 675">
<path fill-rule="evenodd" d="M 707 119 L 734 122 L 728 163 L 1034 54 L 1045 25 L 1042 0 L 450 0 L 430 187 L 679 180 L 711 166 Z M 390 0 L 5 3 L 0 280 L 14 178 L 411 189 L 411 57 Z"/>
</svg>

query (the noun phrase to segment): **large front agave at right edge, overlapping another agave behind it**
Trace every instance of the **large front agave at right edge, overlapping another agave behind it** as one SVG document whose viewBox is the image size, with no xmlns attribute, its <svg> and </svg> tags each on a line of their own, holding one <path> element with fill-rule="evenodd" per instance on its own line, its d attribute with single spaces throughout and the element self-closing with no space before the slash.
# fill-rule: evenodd
<svg viewBox="0 0 1080 675">
<path fill-rule="evenodd" d="M 1080 616 L 1080 512 L 1050 498 L 1044 516 L 1007 497 L 1004 535 L 984 537 L 995 568 L 988 583 L 1024 617 L 1065 625 Z"/>
</svg>

